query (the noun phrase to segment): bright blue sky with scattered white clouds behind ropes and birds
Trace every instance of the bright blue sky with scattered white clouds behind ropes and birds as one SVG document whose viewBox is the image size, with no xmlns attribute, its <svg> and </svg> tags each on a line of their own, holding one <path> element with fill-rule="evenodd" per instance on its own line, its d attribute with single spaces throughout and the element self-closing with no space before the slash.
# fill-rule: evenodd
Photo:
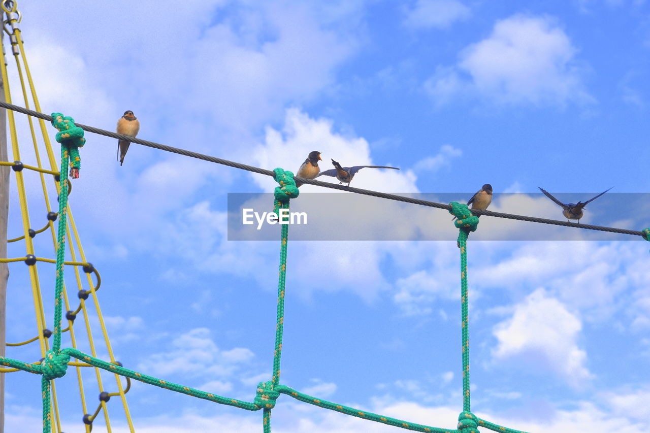
<svg viewBox="0 0 650 433">
<path fill-rule="evenodd" d="M 324 168 L 330 158 L 399 166 L 354 180 L 386 192 L 469 198 L 491 183 L 495 192 L 541 186 L 588 198 L 612 186 L 650 189 L 643 0 L 62 1 L 65 25 L 38 3 L 19 8 L 43 111 L 83 124 L 113 129 L 133 110 L 141 138 L 264 168 L 296 170 L 312 150 L 322 151 Z M 10 81 L 22 105 L 14 72 Z M 22 159 L 33 163 L 27 122 L 18 122 Z M 120 167 L 115 149 L 114 140 L 88 136 L 70 198 L 86 256 L 102 275 L 116 357 L 252 400 L 257 382 L 270 378 L 279 248 L 226 241 L 226 201 L 227 192 L 270 192 L 274 182 L 136 145 Z M 38 178 L 25 177 L 38 228 Z M 21 230 L 15 190 L 12 200 L 10 233 Z M 531 215 L 559 217 L 539 194 L 521 200 Z M 515 201 L 503 196 L 491 209 L 509 211 Z M 583 222 L 602 222 L 597 203 Z M 433 227 L 451 224 L 444 211 L 412 211 Z M 641 230 L 643 215 L 625 209 L 617 226 Z M 482 218 L 478 230 L 494 227 Z M 53 256 L 49 235 L 35 245 Z M 10 245 L 10 257 L 24 254 Z M 650 417 L 647 254 L 642 242 L 471 242 L 473 412 L 530 432 L 642 431 Z M 454 427 L 462 407 L 458 267 L 452 241 L 290 244 L 281 381 Z M 11 268 L 10 342 L 37 332 L 26 270 Z M 51 324 L 53 267 L 39 272 Z M 107 356 L 99 343 L 98 353 Z M 40 358 L 38 347 L 7 354 Z M 92 371 L 84 378 L 94 408 L 96 379 Z M 104 383 L 115 387 L 109 376 Z M 64 431 L 79 431 L 73 374 L 57 386 L 69 397 L 60 399 Z M 40 429 L 39 389 L 36 376 L 8 375 L 6 431 Z M 144 384 L 127 399 L 138 432 L 261 429 L 261 413 Z M 113 431 L 127 431 L 119 401 L 109 406 Z M 273 425 L 396 431 L 288 397 Z M 95 428 L 103 431 L 101 419 Z"/>
</svg>

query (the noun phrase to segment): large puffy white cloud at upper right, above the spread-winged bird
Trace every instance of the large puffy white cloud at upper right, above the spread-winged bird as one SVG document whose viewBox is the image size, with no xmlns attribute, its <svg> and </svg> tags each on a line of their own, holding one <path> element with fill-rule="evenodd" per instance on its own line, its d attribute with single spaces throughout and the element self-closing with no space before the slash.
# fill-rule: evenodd
<svg viewBox="0 0 650 433">
<path fill-rule="evenodd" d="M 515 15 L 463 49 L 456 66 L 437 68 L 424 88 L 438 104 L 469 95 L 506 104 L 592 103 L 576 53 L 552 18 Z"/>
</svg>

